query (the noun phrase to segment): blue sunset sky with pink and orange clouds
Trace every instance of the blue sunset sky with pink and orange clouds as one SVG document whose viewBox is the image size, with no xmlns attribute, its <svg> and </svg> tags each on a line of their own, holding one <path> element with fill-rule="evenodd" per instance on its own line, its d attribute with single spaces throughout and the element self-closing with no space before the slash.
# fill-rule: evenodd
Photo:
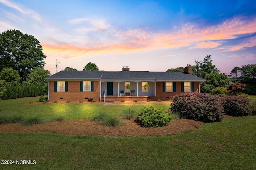
<svg viewBox="0 0 256 170">
<path fill-rule="evenodd" d="M 256 0 L 0 0 L 0 32 L 33 35 L 44 69 L 166 71 L 212 55 L 221 73 L 256 64 Z"/>
</svg>

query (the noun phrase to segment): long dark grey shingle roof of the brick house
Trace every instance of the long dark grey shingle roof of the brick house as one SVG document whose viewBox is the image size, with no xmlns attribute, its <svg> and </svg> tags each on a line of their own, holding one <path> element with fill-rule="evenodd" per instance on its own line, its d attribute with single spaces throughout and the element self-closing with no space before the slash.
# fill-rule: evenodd
<svg viewBox="0 0 256 170">
<path fill-rule="evenodd" d="M 148 71 L 60 71 L 46 78 L 51 79 L 155 79 L 204 81 L 197 76 L 184 72 L 148 72 Z"/>
</svg>

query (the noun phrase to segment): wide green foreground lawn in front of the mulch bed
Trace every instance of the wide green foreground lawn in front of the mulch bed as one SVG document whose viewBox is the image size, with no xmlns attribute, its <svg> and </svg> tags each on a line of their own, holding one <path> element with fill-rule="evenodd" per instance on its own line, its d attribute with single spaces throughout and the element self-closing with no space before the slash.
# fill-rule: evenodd
<svg viewBox="0 0 256 170">
<path fill-rule="evenodd" d="M 256 117 L 234 117 L 175 136 L 103 137 L 0 132 L 3 169 L 255 169 Z"/>
</svg>

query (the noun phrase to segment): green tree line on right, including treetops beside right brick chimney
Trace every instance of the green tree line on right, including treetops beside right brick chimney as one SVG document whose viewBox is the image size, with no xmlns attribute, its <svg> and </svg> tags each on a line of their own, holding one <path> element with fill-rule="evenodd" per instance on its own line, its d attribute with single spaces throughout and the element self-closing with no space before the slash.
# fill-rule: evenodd
<svg viewBox="0 0 256 170">
<path fill-rule="evenodd" d="M 228 88 L 232 83 L 245 84 L 243 92 L 249 95 L 256 95 L 256 64 L 244 65 L 241 68 L 235 67 L 230 75 L 220 73 L 220 70 L 212 64 L 211 55 L 206 55 L 202 61 L 194 61 L 192 74 L 206 81 L 201 85 L 201 92 L 212 93 L 216 88 Z M 170 68 L 167 71 L 184 72 L 183 67 Z"/>
</svg>

